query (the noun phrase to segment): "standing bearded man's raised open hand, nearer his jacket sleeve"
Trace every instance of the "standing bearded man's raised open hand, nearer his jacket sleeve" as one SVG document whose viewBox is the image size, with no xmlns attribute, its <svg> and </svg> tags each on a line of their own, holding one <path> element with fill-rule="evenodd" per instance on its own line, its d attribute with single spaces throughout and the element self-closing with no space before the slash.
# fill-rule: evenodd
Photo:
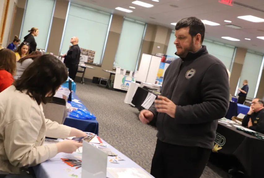
<svg viewBox="0 0 264 178">
<path fill-rule="evenodd" d="M 157 112 L 166 113 L 175 118 L 176 105 L 164 96 L 158 96 L 158 98 L 154 101 Z"/>
</svg>

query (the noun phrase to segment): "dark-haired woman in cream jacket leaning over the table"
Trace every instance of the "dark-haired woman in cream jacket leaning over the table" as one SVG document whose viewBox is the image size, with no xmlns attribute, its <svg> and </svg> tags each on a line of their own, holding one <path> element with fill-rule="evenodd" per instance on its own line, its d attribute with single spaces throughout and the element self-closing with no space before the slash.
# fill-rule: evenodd
<svg viewBox="0 0 264 178">
<path fill-rule="evenodd" d="M 0 93 L 0 171 L 19 178 L 32 177 L 28 175 L 30 167 L 82 146 L 74 140 L 44 145 L 45 136 L 87 136 L 44 116 L 41 103 L 47 103 L 67 78 L 65 65 L 46 54 L 35 59 L 12 86 Z"/>
</svg>

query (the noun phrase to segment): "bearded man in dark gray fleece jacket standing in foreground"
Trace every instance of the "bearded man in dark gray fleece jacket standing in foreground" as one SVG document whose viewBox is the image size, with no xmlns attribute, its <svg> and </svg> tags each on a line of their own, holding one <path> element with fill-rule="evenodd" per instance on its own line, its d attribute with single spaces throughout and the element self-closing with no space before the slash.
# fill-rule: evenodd
<svg viewBox="0 0 264 178">
<path fill-rule="evenodd" d="M 161 96 L 139 119 L 158 129 L 151 174 L 155 178 L 199 178 L 208 162 L 218 119 L 229 104 L 227 69 L 202 46 L 205 25 L 196 17 L 175 26 L 180 58 L 167 68 Z"/>
</svg>

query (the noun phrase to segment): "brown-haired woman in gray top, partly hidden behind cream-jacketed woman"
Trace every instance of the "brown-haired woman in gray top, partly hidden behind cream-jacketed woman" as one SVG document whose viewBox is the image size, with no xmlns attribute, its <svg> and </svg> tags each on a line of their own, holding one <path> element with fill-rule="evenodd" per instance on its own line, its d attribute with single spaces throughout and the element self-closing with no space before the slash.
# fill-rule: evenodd
<svg viewBox="0 0 264 178">
<path fill-rule="evenodd" d="M 23 72 L 26 70 L 26 68 L 39 56 L 42 55 L 42 52 L 40 51 L 34 51 L 31 52 L 28 56 L 20 58 L 16 62 L 16 75 L 14 76 L 14 79 L 17 80 L 20 78 L 20 76 L 23 74 Z"/>
</svg>

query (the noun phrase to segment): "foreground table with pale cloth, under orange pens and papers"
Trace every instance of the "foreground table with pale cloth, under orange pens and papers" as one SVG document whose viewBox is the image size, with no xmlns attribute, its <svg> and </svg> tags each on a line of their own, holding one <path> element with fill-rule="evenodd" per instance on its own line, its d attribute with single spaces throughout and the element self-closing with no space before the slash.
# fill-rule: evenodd
<svg viewBox="0 0 264 178">
<path fill-rule="evenodd" d="M 109 145 L 103 139 L 101 139 L 101 140 L 102 140 L 103 144 Z M 138 164 L 133 162 L 131 159 L 126 157 L 123 153 L 119 152 L 117 149 L 115 149 L 111 145 L 109 145 L 108 148 L 111 149 L 111 151 L 113 153 L 116 153 L 119 157 L 123 158 L 124 161 L 119 161 L 119 163 L 111 163 L 111 162 L 109 162 L 109 160 L 113 159 L 114 157 L 108 156 L 107 167 L 143 169 L 142 167 L 140 167 Z M 76 159 L 76 158 L 74 158 L 74 156 L 80 156 L 80 154 L 78 154 L 78 153 L 73 153 L 73 154 L 59 153 L 54 158 L 47 160 L 47 161 L 33 167 L 33 170 L 36 174 L 36 177 L 37 178 L 67 178 L 67 177 L 70 177 L 69 174 L 76 174 L 76 175 L 78 175 L 79 178 L 81 178 L 81 174 L 80 174 L 81 168 L 79 168 L 79 169 L 72 168 L 72 170 L 74 172 L 65 171 L 64 169 L 67 169 L 70 167 L 60 160 L 60 158 Z M 147 171 L 145 171 L 145 172 L 147 173 Z M 147 173 L 147 174 L 150 175 L 149 173 Z M 107 172 L 107 177 L 113 178 L 113 176 L 110 175 L 108 172 Z M 153 176 L 150 175 L 150 177 L 153 177 Z"/>
</svg>

